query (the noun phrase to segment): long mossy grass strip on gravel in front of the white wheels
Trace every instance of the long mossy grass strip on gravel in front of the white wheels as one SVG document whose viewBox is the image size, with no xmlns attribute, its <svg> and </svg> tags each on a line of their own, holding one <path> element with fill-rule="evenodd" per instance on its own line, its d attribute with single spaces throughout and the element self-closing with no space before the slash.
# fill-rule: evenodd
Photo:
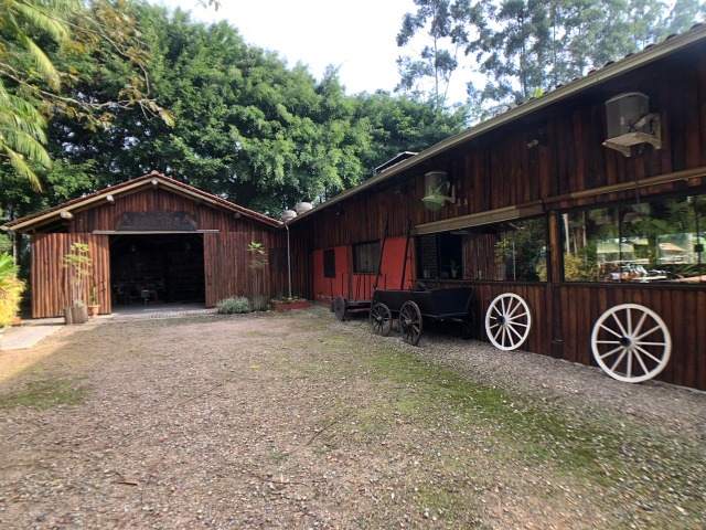
<svg viewBox="0 0 706 530">
<path fill-rule="evenodd" d="M 610 486 L 622 477 L 642 475 L 645 468 L 648 474 L 667 478 L 654 464 L 674 460 L 674 439 L 648 432 L 629 418 L 553 410 L 549 404 L 386 348 L 359 360 L 367 361 L 379 380 L 394 383 L 397 410 L 409 420 L 429 426 L 443 418 L 449 428 L 461 431 L 491 428 L 526 463 L 548 463 L 556 470 Z M 678 445 L 687 453 L 683 455 L 685 470 L 703 464 L 696 447 L 686 442 Z"/>
</svg>

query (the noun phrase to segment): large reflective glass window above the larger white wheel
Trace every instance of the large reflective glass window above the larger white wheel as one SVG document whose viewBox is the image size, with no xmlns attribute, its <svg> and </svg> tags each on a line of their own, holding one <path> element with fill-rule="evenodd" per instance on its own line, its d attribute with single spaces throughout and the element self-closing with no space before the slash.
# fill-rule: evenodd
<svg viewBox="0 0 706 530">
<path fill-rule="evenodd" d="M 706 280 L 706 195 L 561 215 L 566 282 Z"/>
</svg>

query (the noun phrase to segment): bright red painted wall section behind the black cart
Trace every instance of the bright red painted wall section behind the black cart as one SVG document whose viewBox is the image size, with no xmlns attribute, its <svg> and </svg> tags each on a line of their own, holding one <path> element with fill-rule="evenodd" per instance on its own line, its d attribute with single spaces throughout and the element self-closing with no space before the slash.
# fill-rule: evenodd
<svg viewBox="0 0 706 530">
<path fill-rule="evenodd" d="M 404 266 L 406 237 L 389 237 L 385 242 L 383 266 L 377 286 L 381 289 L 398 289 Z M 405 273 L 405 286 L 408 289 L 413 285 L 413 242 L 409 242 L 407 251 L 407 271 Z M 335 246 L 335 278 L 323 276 L 323 250 L 313 252 L 313 292 L 318 301 L 329 303 L 341 295 L 346 300 L 367 299 L 373 296 L 375 284 L 374 274 L 351 274 L 352 248 L 351 246 Z"/>
</svg>

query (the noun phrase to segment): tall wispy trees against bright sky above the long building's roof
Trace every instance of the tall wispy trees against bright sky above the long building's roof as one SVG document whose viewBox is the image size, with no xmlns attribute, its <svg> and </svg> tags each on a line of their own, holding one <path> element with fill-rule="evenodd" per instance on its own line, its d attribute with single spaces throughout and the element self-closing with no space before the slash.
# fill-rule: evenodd
<svg viewBox="0 0 706 530">
<path fill-rule="evenodd" d="M 703 20 L 698 0 L 415 0 L 403 19 L 400 46 L 426 39 L 418 57 L 400 60 L 400 88 L 469 71 L 471 119 L 516 105 L 608 61 L 621 59 Z M 479 75 L 480 74 L 480 75 Z M 457 74 L 458 75 L 458 74 Z"/>
</svg>

